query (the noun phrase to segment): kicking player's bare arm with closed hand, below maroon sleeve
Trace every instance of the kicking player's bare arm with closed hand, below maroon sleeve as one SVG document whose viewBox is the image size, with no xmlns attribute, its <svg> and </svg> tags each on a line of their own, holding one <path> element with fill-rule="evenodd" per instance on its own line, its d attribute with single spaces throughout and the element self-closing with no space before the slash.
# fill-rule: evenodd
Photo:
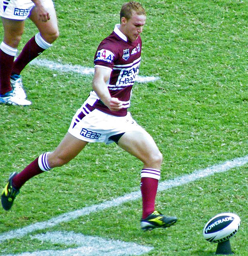
<svg viewBox="0 0 248 256">
<path fill-rule="evenodd" d="M 107 106 L 111 111 L 118 111 L 123 108 L 122 102 L 119 101 L 119 99 L 110 96 L 106 84 L 110 78 L 110 74 L 111 70 L 95 67 L 92 87 L 105 106 Z"/>
</svg>

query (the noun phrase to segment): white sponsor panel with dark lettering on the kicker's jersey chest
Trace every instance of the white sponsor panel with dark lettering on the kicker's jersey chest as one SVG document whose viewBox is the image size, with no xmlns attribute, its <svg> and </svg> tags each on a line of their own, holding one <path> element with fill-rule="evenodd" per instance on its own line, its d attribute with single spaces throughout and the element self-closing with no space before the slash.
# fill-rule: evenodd
<svg viewBox="0 0 248 256">
<path fill-rule="evenodd" d="M 123 85 L 130 85 L 134 83 L 134 81 L 136 80 L 136 76 L 138 75 L 139 64 L 140 62 L 136 63 L 131 68 L 122 68 L 116 85 L 123 86 Z"/>
</svg>

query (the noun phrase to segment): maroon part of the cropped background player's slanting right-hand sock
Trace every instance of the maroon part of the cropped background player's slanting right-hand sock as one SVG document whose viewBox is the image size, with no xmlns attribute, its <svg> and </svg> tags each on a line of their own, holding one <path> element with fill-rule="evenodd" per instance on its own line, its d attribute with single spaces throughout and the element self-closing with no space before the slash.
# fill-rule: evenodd
<svg viewBox="0 0 248 256">
<path fill-rule="evenodd" d="M 33 36 L 24 46 L 19 56 L 14 61 L 14 65 L 12 68 L 12 75 L 17 74 L 20 75 L 21 71 L 26 67 L 27 64 L 34 58 L 36 58 L 39 54 L 41 54 L 45 49 L 38 46 L 35 41 L 35 37 Z"/>
</svg>

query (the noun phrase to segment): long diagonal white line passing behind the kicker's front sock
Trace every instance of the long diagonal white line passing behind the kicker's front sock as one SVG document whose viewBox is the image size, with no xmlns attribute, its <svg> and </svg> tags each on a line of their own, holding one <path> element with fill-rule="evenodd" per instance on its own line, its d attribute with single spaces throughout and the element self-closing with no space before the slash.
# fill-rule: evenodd
<svg viewBox="0 0 248 256">
<path fill-rule="evenodd" d="M 248 163 L 248 155 L 245 157 L 240 157 L 240 158 L 236 158 L 236 159 L 224 162 L 222 164 L 213 165 L 212 167 L 208 167 L 206 169 L 194 171 L 192 174 L 188 174 L 175 179 L 160 182 L 158 191 L 165 191 L 169 188 L 181 186 L 183 184 L 196 181 L 197 179 L 204 178 L 215 173 L 228 171 L 229 169 L 232 169 L 234 167 L 241 167 L 247 163 Z M 121 205 L 122 203 L 133 201 L 140 197 L 141 197 L 140 191 L 132 192 L 124 196 L 121 196 L 119 198 L 115 198 L 114 200 L 105 201 L 104 203 L 100 203 L 98 205 L 92 205 L 92 206 L 84 207 L 80 210 L 64 213 L 48 221 L 36 222 L 34 224 L 31 224 L 23 228 L 14 229 L 9 232 L 0 234 L 0 242 L 5 241 L 7 239 L 13 239 L 17 237 L 20 238 L 33 231 L 54 227 L 61 222 L 69 222 L 78 217 L 88 215 L 90 213 L 95 213 L 107 208 L 116 207 Z"/>
</svg>

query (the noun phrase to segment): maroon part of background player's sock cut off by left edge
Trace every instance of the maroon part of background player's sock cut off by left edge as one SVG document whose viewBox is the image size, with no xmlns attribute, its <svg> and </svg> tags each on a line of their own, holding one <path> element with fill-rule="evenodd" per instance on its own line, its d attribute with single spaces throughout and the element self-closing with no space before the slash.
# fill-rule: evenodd
<svg viewBox="0 0 248 256">
<path fill-rule="evenodd" d="M 0 94 L 10 92 L 10 75 L 13 66 L 14 56 L 11 56 L 0 49 Z"/>
</svg>

